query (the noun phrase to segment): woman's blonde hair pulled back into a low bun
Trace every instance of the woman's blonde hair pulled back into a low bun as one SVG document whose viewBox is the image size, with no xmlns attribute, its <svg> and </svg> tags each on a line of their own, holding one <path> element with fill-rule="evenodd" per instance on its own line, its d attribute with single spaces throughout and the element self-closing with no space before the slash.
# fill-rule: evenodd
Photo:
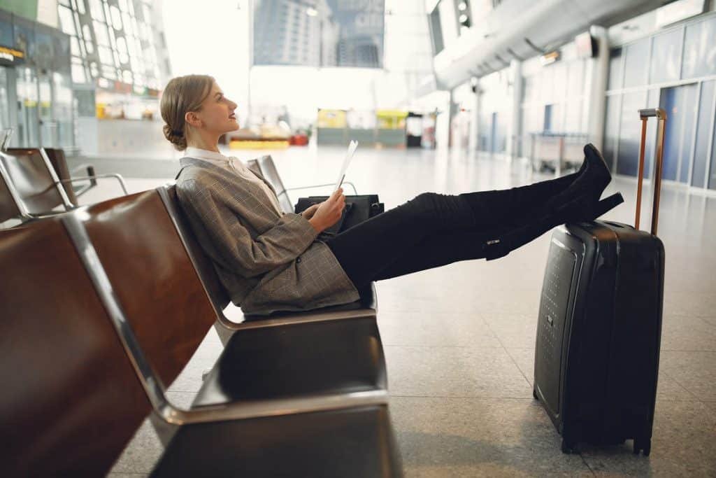
<svg viewBox="0 0 716 478">
<path fill-rule="evenodd" d="M 211 87 L 213 77 L 209 75 L 186 75 L 168 82 L 162 93 L 160 111 L 164 120 L 164 137 L 179 151 L 186 149 L 186 121 L 188 111 L 198 111 Z"/>
</svg>

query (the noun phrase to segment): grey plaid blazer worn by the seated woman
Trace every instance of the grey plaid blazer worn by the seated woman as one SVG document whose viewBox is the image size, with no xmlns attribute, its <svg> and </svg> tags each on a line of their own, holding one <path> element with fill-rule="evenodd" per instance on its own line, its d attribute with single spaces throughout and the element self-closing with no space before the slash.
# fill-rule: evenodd
<svg viewBox="0 0 716 478">
<path fill-rule="evenodd" d="M 279 216 L 260 186 L 220 166 L 196 158 L 180 163 L 180 205 L 231 302 L 244 313 L 359 300 L 338 259 L 303 216 Z"/>
</svg>

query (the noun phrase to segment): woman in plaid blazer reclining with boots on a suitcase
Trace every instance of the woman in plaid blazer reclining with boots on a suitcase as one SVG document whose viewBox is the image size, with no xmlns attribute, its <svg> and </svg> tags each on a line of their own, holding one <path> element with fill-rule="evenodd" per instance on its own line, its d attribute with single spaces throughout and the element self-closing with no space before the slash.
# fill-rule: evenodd
<svg viewBox="0 0 716 478">
<path fill-rule="evenodd" d="M 505 191 L 422 193 L 328 236 L 322 231 L 344 209 L 342 189 L 302 214 L 284 214 L 263 178 L 218 151 L 218 138 L 238 128 L 235 109 L 205 75 L 174 78 L 161 100 L 165 137 L 186 154 L 177 176 L 180 204 L 231 301 L 245 313 L 353 302 L 372 281 L 495 259 L 621 201 L 619 195 L 599 201 L 611 176 L 587 145 L 580 170 L 568 176 Z"/>
</svg>

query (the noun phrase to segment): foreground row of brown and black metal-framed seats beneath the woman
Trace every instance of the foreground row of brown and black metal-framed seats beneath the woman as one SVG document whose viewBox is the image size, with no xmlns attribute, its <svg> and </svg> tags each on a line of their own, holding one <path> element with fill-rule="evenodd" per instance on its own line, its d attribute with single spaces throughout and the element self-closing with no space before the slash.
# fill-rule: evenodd
<svg viewBox="0 0 716 478">
<path fill-rule="evenodd" d="M 6 476 L 104 474 L 147 415 L 153 476 L 402 476 L 374 290 L 232 322 L 173 186 L 0 231 Z M 189 408 L 166 386 L 208 330 Z"/>
</svg>

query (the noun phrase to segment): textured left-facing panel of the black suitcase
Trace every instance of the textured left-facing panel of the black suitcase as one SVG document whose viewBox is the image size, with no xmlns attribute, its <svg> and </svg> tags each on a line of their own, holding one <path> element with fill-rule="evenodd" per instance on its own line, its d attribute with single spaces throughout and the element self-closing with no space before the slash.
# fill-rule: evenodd
<svg viewBox="0 0 716 478">
<path fill-rule="evenodd" d="M 537 322 L 535 383 L 553 416 L 561 410 L 562 347 L 577 256 L 552 240 Z"/>
</svg>

